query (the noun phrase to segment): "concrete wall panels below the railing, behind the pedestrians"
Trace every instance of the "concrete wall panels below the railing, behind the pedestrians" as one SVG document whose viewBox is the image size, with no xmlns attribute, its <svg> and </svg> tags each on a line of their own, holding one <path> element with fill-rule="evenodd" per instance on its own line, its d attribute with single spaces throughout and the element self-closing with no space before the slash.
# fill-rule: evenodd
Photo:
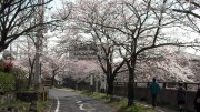
<svg viewBox="0 0 200 112">
<path fill-rule="evenodd" d="M 148 84 L 146 84 L 146 85 L 148 85 Z M 93 85 L 93 86 L 96 86 L 96 85 Z M 78 90 L 88 90 L 88 91 L 93 90 L 94 91 L 93 86 L 90 86 L 89 83 L 88 84 L 87 83 L 77 84 Z M 100 89 L 98 89 L 98 90 L 100 91 Z M 114 95 L 127 96 L 127 91 L 128 91 L 127 84 L 123 84 L 123 83 L 122 83 L 122 85 L 114 84 L 113 91 L 114 91 Z M 136 98 L 141 101 L 147 101 L 147 102 L 151 101 L 150 90 L 147 86 L 136 86 L 134 94 L 136 94 Z M 194 109 L 193 109 L 194 108 L 194 105 L 193 105 L 194 95 L 196 95 L 196 91 L 187 91 L 186 108 L 187 108 L 187 110 L 189 110 L 191 112 L 194 112 Z M 177 90 L 176 89 L 172 89 L 172 88 L 168 89 L 164 86 L 163 89 L 161 89 L 161 92 L 158 94 L 157 99 L 158 99 L 157 100 L 158 103 L 160 103 L 160 104 L 166 104 L 166 105 L 178 109 Z M 166 105 L 163 105 L 163 106 L 166 106 Z"/>
</svg>

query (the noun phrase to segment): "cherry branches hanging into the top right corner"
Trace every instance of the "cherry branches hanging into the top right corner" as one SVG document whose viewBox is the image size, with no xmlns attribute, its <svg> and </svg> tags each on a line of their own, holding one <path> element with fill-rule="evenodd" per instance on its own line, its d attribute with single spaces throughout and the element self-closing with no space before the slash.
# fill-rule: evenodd
<svg viewBox="0 0 200 112">
<path fill-rule="evenodd" d="M 173 18 L 180 18 L 181 27 L 188 37 L 199 37 L 200 34 L 200 2 L 198 0 L 177 0 L 177 7 L 173 8 Z M 199 41 L 196 39 L 196 41 Z M 199 47 L 192 47 L 198 52 Z"/>
</svg>

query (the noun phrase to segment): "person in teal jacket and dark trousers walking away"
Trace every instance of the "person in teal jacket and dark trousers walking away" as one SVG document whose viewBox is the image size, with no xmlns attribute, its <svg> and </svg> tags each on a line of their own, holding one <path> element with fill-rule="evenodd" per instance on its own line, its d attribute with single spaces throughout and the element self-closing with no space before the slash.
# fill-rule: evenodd
<svg viewBox="0 0 200 112">
<path fill-rule="evenodd" d="M 152 99 L 152 108 L 156 108 L 156 101 L 157 101 L 157 95 L 160 92 L 160 86 L 157 83 L 156 78 L 152 79 L 152 83 L 150 84 L 150 91 L 151 91 L 151 99 Z"/>
</svg>

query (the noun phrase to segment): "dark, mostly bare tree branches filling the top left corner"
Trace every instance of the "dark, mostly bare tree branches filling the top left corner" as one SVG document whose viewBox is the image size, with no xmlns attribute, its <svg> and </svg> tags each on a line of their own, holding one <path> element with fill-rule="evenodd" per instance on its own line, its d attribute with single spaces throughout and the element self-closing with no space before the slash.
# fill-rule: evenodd
<svg viewBox="0 0 200 112">
<path fill-rule="evenodd" d="M 39 2 L 39 0 L 1 0 L 0 1 L 0 52 L 21 35 L 36 32 L 39 26 L 50 24 L 53 21 L 36 22 L 36 17 L 41 17 L 41 6 L 52 0 Z M 38 14 L 40 13 L 40 14 Z"/>
</svg>

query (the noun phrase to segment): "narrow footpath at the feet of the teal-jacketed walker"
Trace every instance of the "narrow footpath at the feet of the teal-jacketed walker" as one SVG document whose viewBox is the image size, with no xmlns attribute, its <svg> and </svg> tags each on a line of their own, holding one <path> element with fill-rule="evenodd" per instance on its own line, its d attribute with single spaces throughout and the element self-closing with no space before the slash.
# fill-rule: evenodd
<svg viewBox="0 0 200 112">
<path fill-rule="evenodd" d="M 136 103 L 141 104 L 141 105 L 143 105 L 143 106 L 151 108 L 151 105 L 148 104 L 148 103 L 146 103 L 146 102 L 136 101 Z M 169 110 L 169 109 L 167 109 L 167 108 L 160 108 L 160 106 L 157 106 L 156 110 L 158 110 L 159 112 L 177 112 L 177 111 L 174 111 L 174 110 Z"/>
</svg>

